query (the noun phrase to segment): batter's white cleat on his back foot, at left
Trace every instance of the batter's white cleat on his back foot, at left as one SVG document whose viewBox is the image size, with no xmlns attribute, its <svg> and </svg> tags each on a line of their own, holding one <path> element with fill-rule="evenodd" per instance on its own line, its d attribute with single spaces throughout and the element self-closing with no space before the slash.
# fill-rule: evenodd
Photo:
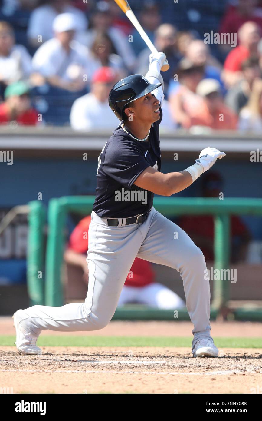
<svg viewBox="0 0 262 421">
<path fill-rule="evenodd" d="M 36 346 L 37 336 L 26 330 L 24 326 L 21 326 L 21 322 L 28 316 L 23 310 L 17 310 L 13 314 L 13 326 L 16 328 L 16 348 L 19 354 L 25 355 L 41 355 L 42 349 Z"/>
</svg>

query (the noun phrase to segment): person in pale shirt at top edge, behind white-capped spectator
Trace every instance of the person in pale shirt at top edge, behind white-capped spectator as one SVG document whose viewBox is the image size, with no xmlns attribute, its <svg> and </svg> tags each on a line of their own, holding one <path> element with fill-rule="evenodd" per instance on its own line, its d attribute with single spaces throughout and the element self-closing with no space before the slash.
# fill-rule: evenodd
<svg viewBox="0 0 262 421">
<path fill-rule="evenodd" d="M 38 47 L 53 37 L 53 21 L 61 13 L 71 13 L 76 18 L 77 32 L 87 29 L 87 18 L 85 13 L 71 5 L 69 0 L 47 0 L 44 5 L 32 11 L 27 28 L 29 43 Z M 39 37 L 41 35 L 41 38 Z"/>
</svg>

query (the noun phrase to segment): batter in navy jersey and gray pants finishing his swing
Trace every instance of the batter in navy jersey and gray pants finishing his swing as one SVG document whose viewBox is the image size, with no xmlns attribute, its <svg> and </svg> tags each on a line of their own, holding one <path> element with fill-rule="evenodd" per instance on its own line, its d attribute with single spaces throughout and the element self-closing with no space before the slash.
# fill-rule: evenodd
<svg viewBox="0 0 262 421">
<path fill-rule="evenodd" d="M 210 288 L 204 255 L 179 226 L 153 208 L 153 195 L 171 196 L 186 189 L 225 153 L 208 147 L 185 170 L 161 173 L 159 123 L 164 95 L 160 70 L 165 59 L 164 53 L 151 54 L 146 77 L 127 76 L 109 94 L 109 106 L 120 124 L 98 157 L 96 198 L 88 230 L 85 302 L 18 310 L 13 319 L 20 353 L 42 352 L 36 346 L 42 330 L 104 328 L 114 315 L 127 274 L 138 256 L 180 272 L 193 323 L 192 354 L 218 355 L 210 336 Z"/>
</svg>

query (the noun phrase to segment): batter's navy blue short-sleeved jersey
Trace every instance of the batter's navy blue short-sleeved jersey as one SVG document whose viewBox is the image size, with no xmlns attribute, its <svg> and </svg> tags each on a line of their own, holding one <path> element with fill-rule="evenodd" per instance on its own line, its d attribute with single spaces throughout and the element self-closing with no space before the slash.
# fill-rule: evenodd
<svg viewBox="0 0 262 421">
<path fill-rule="evenodd" d="M 101 218 L 128 218 L 151 209 L 153 193 L 140 189 L 134 181 L 149 166 L 160 171 L 161 107 L 159 111 L 160 118 L 152 124 L 147 141 L 132 139 L 122 129 L 122 120 L 103 147 L 98 157 L 96 197 L 93 205 L 93 210 Z"/>
</svg>

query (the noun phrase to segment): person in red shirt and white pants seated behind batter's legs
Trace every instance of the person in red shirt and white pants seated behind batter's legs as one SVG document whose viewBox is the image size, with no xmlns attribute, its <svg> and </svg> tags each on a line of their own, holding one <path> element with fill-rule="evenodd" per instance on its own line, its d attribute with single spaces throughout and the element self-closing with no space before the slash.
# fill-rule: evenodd
<svg viewBox="0 0 262 421">
<path fill-rule="evenodd" d="M 81 266 L 84 280 L 88 283 L 87 250 L 88 228 L 91 216 L 83 218 L 69 238 L 64 259 L 69 264 Z M 135 258 L 124 283 L 118 305 L 136 302 L 160 309 L 179 309 L 184 301 L 166 286 L 154 282 L 154 273 L 148 261 Z"/>
</svg>

